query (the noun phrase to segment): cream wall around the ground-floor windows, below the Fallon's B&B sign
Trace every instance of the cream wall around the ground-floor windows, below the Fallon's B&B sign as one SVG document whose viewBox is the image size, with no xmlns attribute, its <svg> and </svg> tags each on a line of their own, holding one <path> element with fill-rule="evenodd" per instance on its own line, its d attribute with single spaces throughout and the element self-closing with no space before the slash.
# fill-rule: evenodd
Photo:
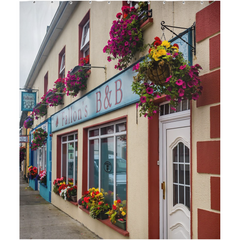
<svg viewBox="0 0 240 240">
<path fill-rule="evenodd" d="M 78 199 L 82 192 L 82 152 L 83 128 L 94 124 L 101 124 L 111 119 L 116 119 L 127 115 L 127 221 L 128 231 L 131 238 L 148 238 L 148 121 L 146 118 L 140 118 L 136 124 L 136 107 L 129 107 L 111 112 L 99 118 L 84 122 L 79 125 L 53 133 L 52 137 L 52 179 L 56 179 L 56 148 L 57 135 L 65 132 L 78 130 Z M 141 149 L 141 151 L 139 151 Z M 71 217 L 82 222 L 91 231 L 95 232 L 102 238 L 122 238 L 123 236 L 109 227 L 93 220 L 90 216 L 76 206 L 67 203 L 52 192 L 52 204 L 67 212 Z M 76 211 L 77 209 L 77 211 Z M 144 218 L 142 216 L 145 216 Z M 106 231 L 103 229 L 106 228 Z"/>
</svg>

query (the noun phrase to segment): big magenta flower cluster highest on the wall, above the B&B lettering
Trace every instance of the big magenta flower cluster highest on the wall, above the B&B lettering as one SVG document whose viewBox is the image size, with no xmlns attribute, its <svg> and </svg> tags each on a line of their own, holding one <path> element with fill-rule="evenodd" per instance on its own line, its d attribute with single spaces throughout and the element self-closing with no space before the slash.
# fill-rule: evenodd
<svg viewBox="0 0 240 240">
<path fill-rule="evenodd" d="M 103 52 L 109 54 L 107 60 L 118 59 L 115 69 L 126 68 L 138 51 L 143 51 L 143 34 L 140 28 L 141 22 L 138 14 L 142 12 L 143 4 L 138 8 L 123 6 L 122 12 L 117 13 L 117 20 L 113 21 L 109 32 L 110 40 L 103 48 Z"/>
</svg>

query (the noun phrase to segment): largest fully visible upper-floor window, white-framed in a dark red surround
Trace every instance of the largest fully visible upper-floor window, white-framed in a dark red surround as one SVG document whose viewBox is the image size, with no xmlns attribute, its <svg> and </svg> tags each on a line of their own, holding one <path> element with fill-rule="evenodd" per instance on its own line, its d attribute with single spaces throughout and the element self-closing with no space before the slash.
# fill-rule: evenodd
<svg viewBox="0 0 240 240">
<path fill-rule="evenodd" d="M 89 55 L 90 49 L 90 11 L 79 24 L 79 61 Z"/>
</svg>

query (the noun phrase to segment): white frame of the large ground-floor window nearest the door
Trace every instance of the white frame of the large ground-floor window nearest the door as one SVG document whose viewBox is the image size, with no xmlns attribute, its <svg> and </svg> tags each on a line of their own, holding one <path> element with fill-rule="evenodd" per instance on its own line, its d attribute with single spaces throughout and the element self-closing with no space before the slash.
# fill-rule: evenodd
<svg viewBox="0 0 240 240">
<path fill-rule="evenodd" d="M 118 124 L 121 124 L 121 123 L 125 123 L 126 125 L 126 130 L 125 131 L 122 131 L 122 132 L 116 132 L 116 126 Z M 108 127 L 108 126 L 112 126 L 113 125 L 113 133 L 108 133 L 108 134 L 101 134 L 101 128 L 104 128 L 104 127 Z M 99 134 L 98 136 L 93 136 L 93 137 L 90 137 L 90 131 L 92 130 L 97 130 L 99 131 Z M 101 166 L 101 139 L 103 138 L 109 138 L 109 137 L 113 137 L 113 151 L 114 151 L 114 168 L 113 168 L 113 179 L 114 179 L 114 187 L 113 187 L 113 192 L 114 192 L 114 197 L 113 197 L 113 201 L 116 200 L 116 161 L 117 161 L 117 158 L 116 158 L 116 153 L 117 153 L 117 149 L 116 149 L 116 142 L 117 142 L 117 137 L 118 136 L 122 136 L 122 135 L 125 135 L 126 136 L 126 139 L 127 139 L 127 119 L 121 119 L 121 120 L 118 120 L 118 121 L 114 121 L 114 122 L 108 122 L 106 124 L 102 124 L 102 125 L 98 125 L 98 126 L 95 126 L 95 127 L 91 127 L 91 128 L 88 128 L 88 131 L 87 131 L 87 146 L 88 146 L 88 149 L 87 149 L 87 189 L 89 189 L 89 177 L 90 177 L 90 169 L 89 169 L 89 161 L 90 161 L 90 141 L 91 140 L 95 140 L 95 139 L 99 139 L 99 166 Z M 126 141 L 127 142 L 127 141 Z M 126 148 L 127 148 L 127 145 L 126 145 Z M 126 163 L 127 163 L 127 155 L 126 155 Z M 127 178 L 127 164 L 126 164 L 126 178 Z M 98 188 L 101 189 L 101 167 L 99 167 L 99 173 L 98 173 Z M 126 189 L 127 189 L 127 179 L 126 179 Z M 126 191 L 126 200 L 127 200 L 127 191 Z"/>
</svg>

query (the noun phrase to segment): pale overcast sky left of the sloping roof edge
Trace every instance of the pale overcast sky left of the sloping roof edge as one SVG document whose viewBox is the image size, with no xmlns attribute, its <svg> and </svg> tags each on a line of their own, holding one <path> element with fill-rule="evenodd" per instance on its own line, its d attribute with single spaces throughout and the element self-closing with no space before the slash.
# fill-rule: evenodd
<svg viewBox="0 0 240 240">
<path fill-rule="evenodd" d="M 19 2 L 19 88 L 23 88 L 59 1 Z M 19 92 L 19 120 L 21 91 Z"/>
</svg>

